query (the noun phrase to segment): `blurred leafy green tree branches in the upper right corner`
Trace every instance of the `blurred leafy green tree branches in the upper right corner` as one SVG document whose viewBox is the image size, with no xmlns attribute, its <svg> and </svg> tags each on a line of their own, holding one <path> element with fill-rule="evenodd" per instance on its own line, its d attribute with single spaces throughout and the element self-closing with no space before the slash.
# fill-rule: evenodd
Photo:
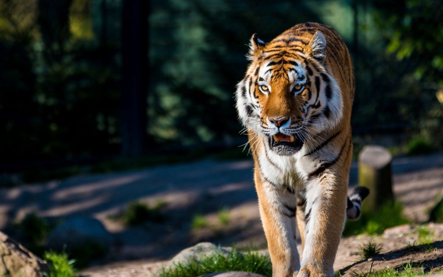
<svg viewBox="0 0 443 277">
<path fill-rule="evenodd" d="M 443 109 L 436 92 L 443 88 L 443 3 L 438 0 L 374 0 L 373 18 L 402 70 L 396 85 L 400 115 L 443 145 Z"/>
</svg>

